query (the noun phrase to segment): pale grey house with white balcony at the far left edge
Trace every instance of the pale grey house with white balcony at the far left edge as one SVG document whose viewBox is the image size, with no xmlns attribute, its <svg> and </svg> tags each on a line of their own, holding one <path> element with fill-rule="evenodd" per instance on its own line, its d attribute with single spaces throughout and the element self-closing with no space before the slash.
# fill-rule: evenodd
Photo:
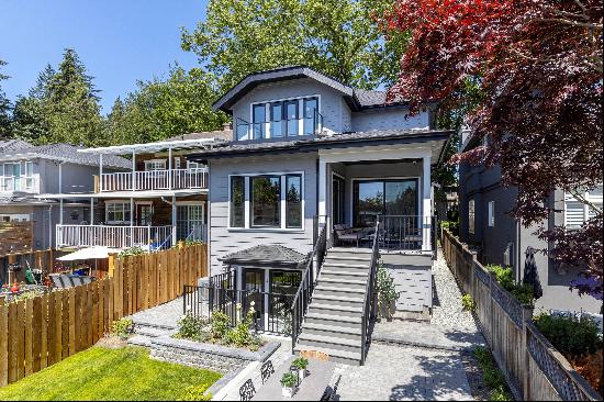
<svg viewBox="0 0 604 402">
<path fill-rule="evenodd" d="M 92 191 L 99 157 L 78 153 L 68 144 L 33 146 L 20 139 L 0 141 L 0 255 L 54 246 L 55 225 L 81 223 L 88 205 L 64 204 L 44 193 Z M 105 171 L 120 171 L 128 160 L 111 157 Z"/>
</svg>

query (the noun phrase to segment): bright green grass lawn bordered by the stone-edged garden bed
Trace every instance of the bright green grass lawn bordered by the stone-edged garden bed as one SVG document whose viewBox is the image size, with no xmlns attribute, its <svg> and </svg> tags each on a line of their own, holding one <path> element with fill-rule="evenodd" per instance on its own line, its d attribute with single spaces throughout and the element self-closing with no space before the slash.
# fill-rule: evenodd
<svg viewBox="0 0 604 402">
<path fill-rule="evenodd" d="M 137 347 L 92 347 L 21 381 L 0 388 L 1 400 L 178 400 L 188 387 L 221 375 L 153 360 Z"/>
</svg>

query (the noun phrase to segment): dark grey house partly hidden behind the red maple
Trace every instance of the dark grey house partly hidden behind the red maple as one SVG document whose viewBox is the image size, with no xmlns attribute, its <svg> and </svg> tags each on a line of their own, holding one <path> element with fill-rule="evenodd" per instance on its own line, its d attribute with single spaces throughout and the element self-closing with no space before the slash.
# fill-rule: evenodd
<svg viewBox="0 0 604 402">
<path fill-rule="evenodd" d="M 463 133 L 462 150 L 477 146 L 469 133 Z M 551 245 L 535 235 L 538 226 L 525 227 L 510 212 L 516 204 L 517 189 L 503 187 L 501 167 L 470 166 L 459 168 L 459 235 L 465 243 L 477 247 L 478 257 L 484 264 L 512 267 L 514 277 L 521 281 L 524 272 L 527 247 L 549 250 Z M 602 187 L 585 193 L 585 198 L 602 206 Z M 591 216 L 589 208 L 561 190 L 555 191 L 546 201 L 558 211 L 551 213 L 546 228 L 566 225 L 579 227 Z M 544 253 L 535 254 L 544 295 L 537 300 L 537 309 L 589 311 L 600 313 L 602 302 L 591 297 L 580 298 L 569 290 L 577 278 L 573 268 L 560 266 Z"/>
</svg>

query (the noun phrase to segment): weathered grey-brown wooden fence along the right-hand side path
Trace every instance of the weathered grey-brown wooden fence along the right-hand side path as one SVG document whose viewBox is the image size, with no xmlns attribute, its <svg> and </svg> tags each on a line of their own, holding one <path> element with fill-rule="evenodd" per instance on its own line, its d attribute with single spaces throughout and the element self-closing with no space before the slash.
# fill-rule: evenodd
<svg viewBox="0 0 604 402">
<path fill-rule="evenodd" d="M 533 324 L 533 309 L 504 290 L 476 253 L 447 230 L 441 245 L 459 287 L 477 304 L 480 330 L 517 400 L 602 400 Z"/>
</svg>

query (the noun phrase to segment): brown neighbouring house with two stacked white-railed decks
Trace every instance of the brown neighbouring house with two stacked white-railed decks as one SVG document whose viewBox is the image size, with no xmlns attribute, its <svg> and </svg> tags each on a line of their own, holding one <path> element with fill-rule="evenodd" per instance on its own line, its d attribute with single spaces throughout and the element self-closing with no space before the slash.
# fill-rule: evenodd
<svg viewBox="0 0 604 402">
<path fill-rule="evenodd" d="M 187 160 L 195 149 L 211 147 L 230 129 L 192 133 L 148 144 L 80 149 L 103 167 L 90 172 L 94 187 L 78 194 L 44 194 L 57 200 L 85 203 L 87 222 L 59 222 L 56 248 L 107 246 L 110 248 L 169 248 L 178 241 L 205 239 L 208 169 Z M 127 156 L 127 170 L 115 172 L 104 161 Z"/>
</svg>

